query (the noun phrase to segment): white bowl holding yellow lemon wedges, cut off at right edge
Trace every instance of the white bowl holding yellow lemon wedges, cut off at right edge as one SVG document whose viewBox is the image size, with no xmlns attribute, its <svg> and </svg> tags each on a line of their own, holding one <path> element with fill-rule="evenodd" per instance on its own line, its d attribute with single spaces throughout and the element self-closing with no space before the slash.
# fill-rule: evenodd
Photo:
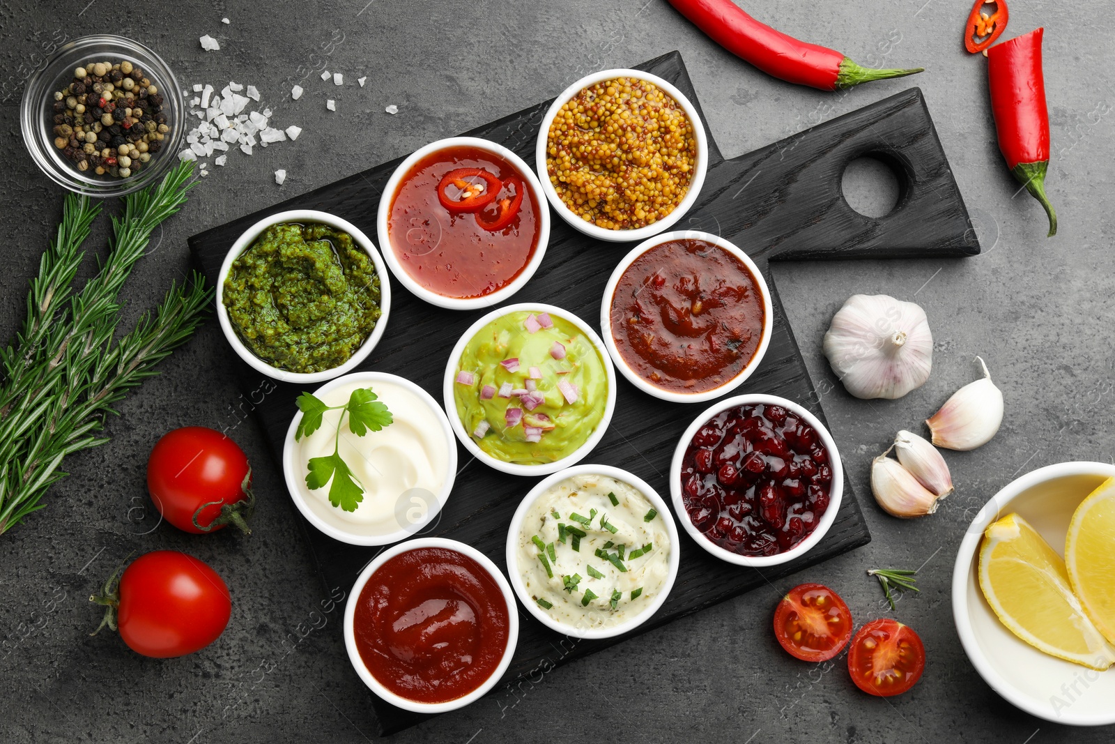
<svg viewBox="0 0 1115 744">
<path fill-rule="evenodd" d="M 1027 713 L 1115 723 L 1113 544 L 1115 465 L 1089 462 L 1012 481 L 960 543 L 952 615 L 961 645 L 980 676 Z"/>
</svg>

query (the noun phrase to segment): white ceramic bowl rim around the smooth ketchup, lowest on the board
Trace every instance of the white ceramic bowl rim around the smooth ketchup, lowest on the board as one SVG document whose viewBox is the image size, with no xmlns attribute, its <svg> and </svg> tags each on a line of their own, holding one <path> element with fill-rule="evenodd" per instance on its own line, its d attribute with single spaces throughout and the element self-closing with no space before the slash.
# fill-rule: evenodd
<svg viewBox="0 0 1115 744">
<path fill-rule="evenodd" d="M 363 587 L 368 583 L 368 579 L 376 572 L 377 569 L 379 569 L 380 566 L 386 563 L 391 558 L 398 555 L 399 553 L 405 553 L 418 548 L 444 548 L 472 558 L 492 576 L 497 584 L 500 584 L 500 589 L 503 591 L 504 601 L 507 602 L 507 647 L 503 651 L 503 658 L 500 659 L 500 666 L 496 667 L 495 671 L 492 673 L 492 676 L 488 677 L 483 685 L 463 697 L 458 697 L 455 700 L 448 700 L 446 703 L 419 703 L 418 700 L 411 700 L 396 695 L 391 690 L 384 687 L 379 680 L 371 675 L 371 671 L 369 671 L 368 667 L 365 666 L 363 659 L 360 658 L 360 651 L 357 650 L 356 647 L 356 631 L 353 629 L 352 620 L 356 617 L 356 606 L 360 599 L 360 592 L 363 591 Z M 507 579 L 505 579 L 503 573 L 500 572 L 496 564 L 492 562 L 492 559 L 475 548 L 466 545 L 463 542 L 457 542 L 456 540 L 446 540 L 445 538 L 419 538 L 417 540 L 407 540 L 406 542 L 400 542 L 397 545 L 388 548 L 363 568 L 360 576 L 357 577 L 356 583 L 352 584 L 352 591 L 349 592 L 348 602 L 345 605 L 345 648 L 348 649 L 349 661 L 352 663 L 352 668 L 356 669 L 356 673 L 360 676 L 360 679 L 363 680 L 363 684 L 368 686 L 368 689 L 395 707 L 403 708 L 404 711 L 428 714 L 447 713 L 448 711 L 456 711 L 457 708 L 462 708 L 469 703 L 478 700 L 484 697 L 484 695 L 503 677 L 503 674 L 511 665 L 512 657 L 515 655 L 515 645 L 517 642 L 518 611 L 515 607 L 515 598 L 511 593 L 511 587 L 507 586 Z"/>
</svg>

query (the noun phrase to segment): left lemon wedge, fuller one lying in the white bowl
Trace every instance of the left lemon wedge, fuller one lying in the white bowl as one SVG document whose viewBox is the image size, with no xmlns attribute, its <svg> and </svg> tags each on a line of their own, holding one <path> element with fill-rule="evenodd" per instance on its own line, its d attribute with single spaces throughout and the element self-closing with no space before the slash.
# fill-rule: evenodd
<svg viewBox="0 0 1115 744">
<path fill-rule="evenodd" d="M 1115 664 L 1115 647 L 1084 613 L 1065 561 L 1018 514 L 983 533 L 979 586 L 1002 625 L 1030 646 L 1099 671 Z"/>
</svg>

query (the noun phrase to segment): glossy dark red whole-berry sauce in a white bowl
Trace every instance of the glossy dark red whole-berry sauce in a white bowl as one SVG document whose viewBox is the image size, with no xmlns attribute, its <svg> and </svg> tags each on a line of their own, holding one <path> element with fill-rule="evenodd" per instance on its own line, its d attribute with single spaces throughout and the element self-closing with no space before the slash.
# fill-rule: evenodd
<svg viewBox="0 0 1115 744">
<path fill-rule="evenodd" d="M 741 555 L 805 540 L 828 510 L 833 471 L 815 428 L 782 406 L 744 405 L 705 423 L 681 461 L 694 525 Z"/>
</svg>

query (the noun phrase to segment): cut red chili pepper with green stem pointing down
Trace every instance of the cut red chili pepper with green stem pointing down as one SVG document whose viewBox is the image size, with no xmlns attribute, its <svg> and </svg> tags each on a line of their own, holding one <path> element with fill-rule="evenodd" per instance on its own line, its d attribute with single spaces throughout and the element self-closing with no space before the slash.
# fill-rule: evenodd
<svg viewBox="0 0 1115 744">
<path fill-rule="evenodd" d="M 991 113 L 1007 167 L 1049 215 L 1049 236 L 1057 234 L 1057 213 L 1045 193 L 1049 167 L 1049 113 L 1041 75 L 1045 29 L 997 44 L 987 51 Z"/>
</svg>

